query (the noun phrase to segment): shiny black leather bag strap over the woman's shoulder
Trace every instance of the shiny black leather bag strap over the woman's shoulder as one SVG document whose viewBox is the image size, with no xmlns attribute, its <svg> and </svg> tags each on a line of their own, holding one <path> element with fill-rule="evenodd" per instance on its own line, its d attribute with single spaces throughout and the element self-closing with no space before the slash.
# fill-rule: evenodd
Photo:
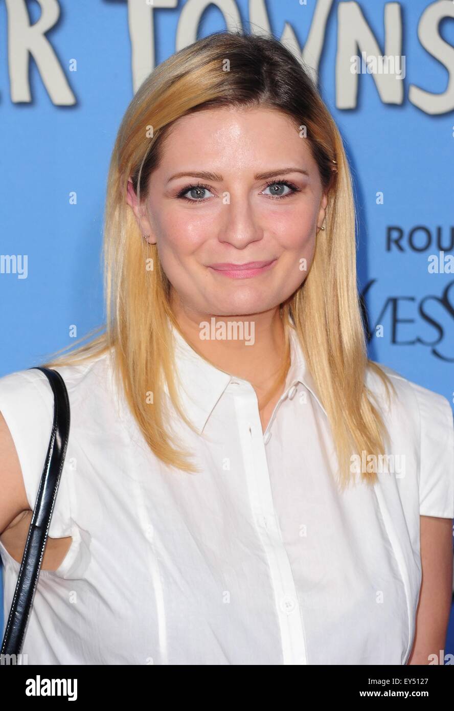
<svg viewBox="0 0 454 711">
<path fill-rule="evenodd" d="M 47 376 L 53 390 L 53 425 L 35 508 L 23 550 L 16 590 L 1 645 L 1 654 L 10 655 L 21 653 L 70 434 L 70 400 L 65 381 L 56 370 L 40 366 L 36 366 L 36 368 Z M 29 370 L 33 370 L 33 368 L 29 368 Z"/>
</svg>

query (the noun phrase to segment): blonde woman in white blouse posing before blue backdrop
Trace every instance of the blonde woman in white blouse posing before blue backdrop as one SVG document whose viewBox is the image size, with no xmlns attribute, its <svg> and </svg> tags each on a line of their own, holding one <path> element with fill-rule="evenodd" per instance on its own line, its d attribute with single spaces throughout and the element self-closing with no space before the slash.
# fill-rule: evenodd
<svg viewBox="0 0 454 711">
<path fill-rule="evenodd" d="M 71 431 L 28 663 L 428 664 L 450 609 L 452 413 L 367 359 L 345 151 L 278 41 L 215 33 L 141 85 L 104 257 L 106 333 L 45 363 Z M 0 412 L 7 612 L 45 375 L 1 378 Z"/>
</svg>

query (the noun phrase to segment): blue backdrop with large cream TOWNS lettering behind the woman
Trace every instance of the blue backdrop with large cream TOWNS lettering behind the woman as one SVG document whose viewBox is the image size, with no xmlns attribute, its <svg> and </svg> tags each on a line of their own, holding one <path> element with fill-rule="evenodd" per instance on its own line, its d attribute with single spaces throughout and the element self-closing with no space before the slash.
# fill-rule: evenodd
<svg viewBox="0 0 454 711">
<path fill-rule="evenodd" d="M 449 0 L 1 3 L 0 375 L 104 321 L 102 215 L 124 110 L 175 49 L 240 26 L 300 48 L 345 139 L 369 356 L 454 402 L 453 18 Z M 394 73 L 371 73 L 371 55 L 396 58 Z"/>
</svg>

